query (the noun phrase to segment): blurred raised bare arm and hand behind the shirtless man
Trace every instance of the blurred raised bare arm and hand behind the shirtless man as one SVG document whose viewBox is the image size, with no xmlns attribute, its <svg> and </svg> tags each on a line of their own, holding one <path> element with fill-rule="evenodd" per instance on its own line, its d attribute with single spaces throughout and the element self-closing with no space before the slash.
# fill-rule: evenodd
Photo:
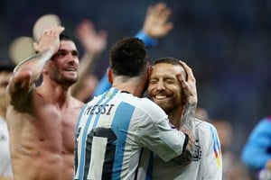
<svg viewBox="0 0 271 180">
<path fill-rule="evenodd" d="M 84 55 L 79 62 L 79 81 L 72 85 L 71 94 L 87 103 L 98 85 L 98 77 L 92 71 L 98 56 L 107 47 L 107 31 L 96 31 L 92 22 L 83 20 L 79 23 L 76 33 L 83 45 Z"/>
</svg>

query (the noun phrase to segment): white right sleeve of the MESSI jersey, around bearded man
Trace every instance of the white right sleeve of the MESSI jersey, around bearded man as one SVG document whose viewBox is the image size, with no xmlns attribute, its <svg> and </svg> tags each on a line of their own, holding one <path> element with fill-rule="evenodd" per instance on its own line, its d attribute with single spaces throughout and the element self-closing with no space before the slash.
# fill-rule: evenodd
<svg viewBox="0 0 271 180">
<path fill-rule="evenodd" d="M 144 112 L 142 112 L 144 111 Z M 140 110 L 145 114 L 137 125 L 137 137 L 140 146 L 154 151 L 165 162 L 182 154 L 185 134 L 172 129 L 167 115 L 156 104 L 149 103 Z"/>
</svg>

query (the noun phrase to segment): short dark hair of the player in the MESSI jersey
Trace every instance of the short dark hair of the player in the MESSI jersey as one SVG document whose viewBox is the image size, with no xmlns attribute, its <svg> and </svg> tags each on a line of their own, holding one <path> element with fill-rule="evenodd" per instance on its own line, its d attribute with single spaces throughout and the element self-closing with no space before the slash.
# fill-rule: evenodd
<svg viewBox="0 0 271 180">
<path fill-rule="evenodd" d="M 138 76 L 149 62 L 145 43 L 134 37 L 118 40 L 109 56 L 110 68 L 117 76 Z"/>
</svg>

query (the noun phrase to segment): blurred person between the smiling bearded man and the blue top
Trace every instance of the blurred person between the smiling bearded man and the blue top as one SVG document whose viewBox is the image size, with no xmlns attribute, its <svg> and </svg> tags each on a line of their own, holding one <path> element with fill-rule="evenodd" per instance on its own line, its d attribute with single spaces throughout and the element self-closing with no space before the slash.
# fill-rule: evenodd
<svg viewBox="0 0 271 180">
<path fill-rule="evenodd" d="M 212 120 L 217 128 L 222 151 L 223 180 L 249 180 L 248 169 L 230 149 L 234 137 L 232 126 L 226 120 Z"/>
</svg>

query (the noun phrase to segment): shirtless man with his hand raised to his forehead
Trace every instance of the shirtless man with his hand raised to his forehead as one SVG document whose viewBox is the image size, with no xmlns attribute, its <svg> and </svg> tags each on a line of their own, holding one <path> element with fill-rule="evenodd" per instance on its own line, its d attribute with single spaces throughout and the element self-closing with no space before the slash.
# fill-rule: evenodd
<svg viewBox="0 0 271 180">
<path fill-rule="evenodd" d="M 74 131 L 83 103 L 70 95 L 78 80 L 75 43 L 63 27 L 42 32 L 40 53 L 14 68 L 7 86 L 7 124 L 14 179 L 69 180 Z M 36 86 L 42 75 L 42 84 Z"/>
</svg>

